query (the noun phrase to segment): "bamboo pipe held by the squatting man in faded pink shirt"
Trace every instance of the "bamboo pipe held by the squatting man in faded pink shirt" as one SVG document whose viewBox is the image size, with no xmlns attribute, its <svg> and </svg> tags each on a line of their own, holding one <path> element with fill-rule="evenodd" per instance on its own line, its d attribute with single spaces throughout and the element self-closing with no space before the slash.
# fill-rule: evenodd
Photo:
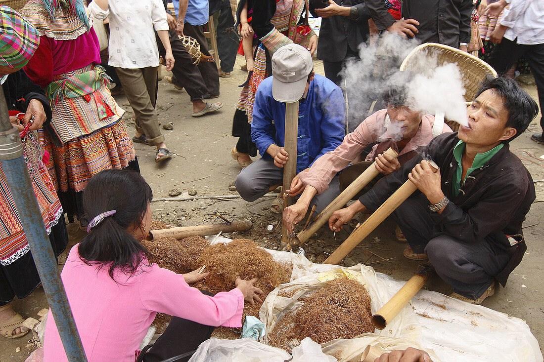
<svg viewBox="0 0 544 362">
<path fill-rule="evenodd" d="M 388 148 L 384 153 L 394 158 L 399 156 L 399 154 L 393 151 L 392 148 Z M 319 228 L 330 219 L 331 215 L 336 210 L 343 208 L 348 201 L 357 195 L 357 192 L 361 191 L 364 186 L 378 176 L 378 173 L 379 172 L 376 169 L 375 162 L 368 166 L 368 168 L 364 170 L 364 172 L 361 173 L 359 177 L 354 180 L 354 182 L 352 182 L 344 191 L 341 192 L 340 195 L 338 195 L 326 208 L 324 208 L 319 215 L 316 216 L 316 220 L 310 224 L 310 227 L 302 230 L 296 235 L 296 238 L 298 238 L 298 246 L 304 244 L 308 239 L 310 239 L 310 236 L 317 232 L 317 230 L 319 230 Z M 297 242 L 296 238 L 293 238 L 290 244 L 295 244 Z M 290 244 L 283 247 L 283 251 L 290 251 L 290 249 L 293 247 L 293 245 Z"/>
</svg>

